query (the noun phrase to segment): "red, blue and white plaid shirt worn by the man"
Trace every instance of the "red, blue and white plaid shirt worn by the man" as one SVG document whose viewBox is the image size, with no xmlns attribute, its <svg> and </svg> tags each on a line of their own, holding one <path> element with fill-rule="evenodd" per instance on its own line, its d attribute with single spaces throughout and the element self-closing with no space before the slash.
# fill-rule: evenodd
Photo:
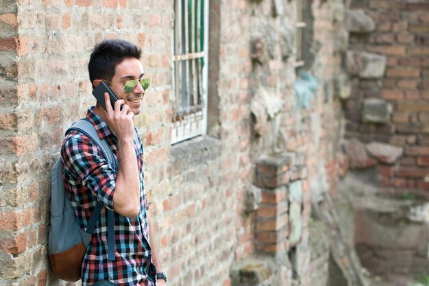
<svg viewBox="0 0 429 286">
<path fill-rule="evenodd" d="M 86 115 L 100 139 L 106 139 L 114 156 L 118 156 L 117 138 L 93 111 Z M 66 135 L 61 150 L 64 181 L 71 204 L 82 229 L 86 229 L 97 200 L 101 210 L 97 227 L 82 263 L 82 285 L 107 280 L 118 285 L 156 285 L 156 268 L 151 261 L 147 201 L 143 187 L 143 146 L 138 139 L 134 149 L 140 173 L 140 213 L 135 218 L 114 213 L 115 261 L 108 260 L 107 211 L 113 210 L 117 172 L 103 157 L 101 149 L 78 131 Z M 112 247 L 112 246 L 110 246 Z"/>
</svg>

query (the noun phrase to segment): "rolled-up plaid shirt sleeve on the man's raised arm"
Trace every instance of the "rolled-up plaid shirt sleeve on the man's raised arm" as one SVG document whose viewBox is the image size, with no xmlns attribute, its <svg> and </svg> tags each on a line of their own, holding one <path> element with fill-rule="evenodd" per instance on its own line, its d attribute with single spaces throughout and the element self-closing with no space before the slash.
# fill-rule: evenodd
<svg viewBox="0 0 429 286">
<path fill-rule="evenodd" d="M 103 158 L 101 149 L 86 135 L 74 134 L 62 146 L 61 158 L 65 178 L 71 176 L 104 206 L 113 211 L 113 194 L 117 172 Z"/>
</svg>

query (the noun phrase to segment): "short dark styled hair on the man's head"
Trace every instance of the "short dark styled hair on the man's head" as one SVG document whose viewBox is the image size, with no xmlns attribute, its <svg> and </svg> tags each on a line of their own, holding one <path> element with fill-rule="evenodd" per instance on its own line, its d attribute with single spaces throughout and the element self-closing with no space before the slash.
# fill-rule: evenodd
<svg viewBox="0 0 429 286">
<path fill-rule="evenodd" d="M 126 40 L 109 39 L 95 45 L 88 62 L 89 80 L 112 81 L 114 71 L 125 58 L 140 60 L 141 49 Z M 94 88 L 94 86 L 93 86 Z"/>
</svg>

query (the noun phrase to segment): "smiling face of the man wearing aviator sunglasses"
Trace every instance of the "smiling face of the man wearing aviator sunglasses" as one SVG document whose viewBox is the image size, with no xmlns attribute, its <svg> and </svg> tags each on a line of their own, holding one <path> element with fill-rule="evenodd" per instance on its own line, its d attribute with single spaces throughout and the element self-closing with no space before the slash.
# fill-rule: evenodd
<svg viewBox="0 0 429 286">
<path fill-rule="evenodd" d="M 144 74 L 140 60 L 137 60 L 136 58 L 125 58 L 125 60 L 117 65 L 112 78 L 112 84 L 109 86 L 118 99 L 125 100 L 125 104 L 130 106 L 134 115 L 138 115 L 140 113 L 145 91 L 140 85 L 140 82 L 131 93 L 125 93 L 123 85 L 129 80 L 140 80 L 143 78 Z"/>
</svg>

